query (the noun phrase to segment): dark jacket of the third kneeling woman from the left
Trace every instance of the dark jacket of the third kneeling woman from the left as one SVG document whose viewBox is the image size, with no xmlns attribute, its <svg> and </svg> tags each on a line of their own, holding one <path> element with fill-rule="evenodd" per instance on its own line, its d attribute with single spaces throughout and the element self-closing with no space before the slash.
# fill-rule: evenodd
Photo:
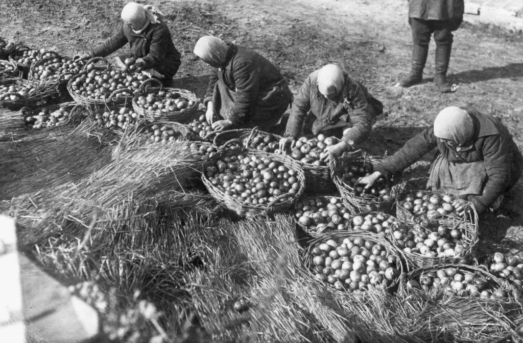
<svg viewBox="0 0 523 343">
<path fill-rule="evenodd" d="M 338 100 L 327 100 L 317 88 L 319 70 L 315 70 L 305 79 L 300 92 L 292 102 L 291 113 L 286 127 L 286 136 L 299 137 L 305 118 L 312 114 L 316 117 L 312 124 L 312 133 L 334 127 L 352 127 L 344 136 L 352 145 L 365 140 L 372 129 L 372 119 L 381 113 L 372 105 L 375 100 L 365 86 L 345 73 L 345 85 Z M 376 102 L 373 102 L 376 104 Z M 381 103 L 379 103 L 381 105 Z M 382 105 L 381 105 L 382 106 Z M 310 112 L 310 113 L 309 113 Z"/>
</svg>

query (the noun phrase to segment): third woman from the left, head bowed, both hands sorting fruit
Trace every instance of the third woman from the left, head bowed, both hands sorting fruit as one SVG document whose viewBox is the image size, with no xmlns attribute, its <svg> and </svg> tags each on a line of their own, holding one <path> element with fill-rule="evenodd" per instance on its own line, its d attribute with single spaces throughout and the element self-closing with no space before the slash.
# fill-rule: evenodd
<svg viewBox="0 0 523 343">
<path fill-rule="evenodd" d="M 294 98 L 280 149 L 293 145 L 302 131 L 309 130 L 341 138 L 327 147 L 328 156 L 339 156 L 369 136 L 374 117 L 382 112 L 383 104 L 365 86 L 338 65 L 327 64 L 305 79 Z M 312 127 L 304 128 L 310 122 Z"/>
</svg>

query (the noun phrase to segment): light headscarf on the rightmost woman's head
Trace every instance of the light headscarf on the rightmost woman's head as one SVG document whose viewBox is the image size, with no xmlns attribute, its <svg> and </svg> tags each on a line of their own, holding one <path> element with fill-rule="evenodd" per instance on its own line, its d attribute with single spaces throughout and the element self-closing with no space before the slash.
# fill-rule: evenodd
<svg viewBox="0 0 523 343">
<path fill-rule="evenodd" d="M 456 106 L 441 110 L 434 120 L 434 135 L 464 145 L 474 134 L 472 117 Z"/>
</svg>

